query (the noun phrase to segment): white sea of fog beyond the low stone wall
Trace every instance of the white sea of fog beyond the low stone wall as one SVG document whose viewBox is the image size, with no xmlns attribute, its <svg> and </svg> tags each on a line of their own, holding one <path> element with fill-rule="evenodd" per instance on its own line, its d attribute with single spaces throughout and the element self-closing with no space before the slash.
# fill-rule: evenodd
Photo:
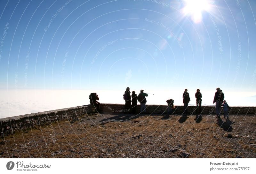
<svg viewBox="0 0 256 174">
<path fill-rule="evenodd" d="M 136 94 L 138 95 L 139 89 Z M 88 91 L 88 90 L 1 90 L 0 118 L 24 115 L 48 110 L 70 108 L 89 104 L 89 95 L 96 92 L 101 103 L 125 103 L 123 91 Z M 173 99 L 174 105 L 183 105 L 180 91 L 146 91 L 149 93 L 147 104 L 166 105 L 166 100 Z M 188 91 L 191 101 L 196 104 L 196 91 Z M 215 91 L 202 91 L 202 105 L 213 105 Z M 223 91 L 229 106 L 256 106 L 256 92 Z M 154 94 L 154 95 L 153 95 Z"/>
</svg>

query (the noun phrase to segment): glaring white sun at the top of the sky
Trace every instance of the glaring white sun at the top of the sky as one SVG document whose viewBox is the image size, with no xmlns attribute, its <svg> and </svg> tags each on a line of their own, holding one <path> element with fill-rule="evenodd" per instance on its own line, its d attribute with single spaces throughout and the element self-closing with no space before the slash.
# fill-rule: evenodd
<svg viewBox="0 0 256 174">
<path fill-rule="evenodd" d="M 211 10 L 210 0 L 183 0 L 185 7 L 183 13 L 191 16 L 195 23 L 202 21 L 202 12 Z"/>
</svg>

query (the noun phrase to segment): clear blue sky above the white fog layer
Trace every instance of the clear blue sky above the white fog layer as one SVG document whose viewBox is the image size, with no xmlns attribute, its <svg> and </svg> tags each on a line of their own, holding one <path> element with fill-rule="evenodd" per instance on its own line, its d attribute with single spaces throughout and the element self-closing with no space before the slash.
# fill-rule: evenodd
<svg viewBox="0 0 256 174">
<path fill-rule="evenodd" d="M 207 2 L 1 0 L 0 88 L 255 92 L 256 2 Z"/>
</svg>

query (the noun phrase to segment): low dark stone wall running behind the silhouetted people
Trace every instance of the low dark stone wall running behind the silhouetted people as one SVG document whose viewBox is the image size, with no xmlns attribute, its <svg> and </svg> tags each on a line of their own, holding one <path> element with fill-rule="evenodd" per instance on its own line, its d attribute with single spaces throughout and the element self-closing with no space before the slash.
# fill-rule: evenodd
<svg viewBox="0 0 256 174">
<path fill-rule="evenodd" d="M 146 105 L 147 114 L 165 114 L 167 105 Z M 124 104 L 102 104 L 102 113 L 124 113 Z M 203 106 L 202 114 L 215 115 L 214 106 Z M 195 115 L 196 106 L 188 106 L 188 115 Z M 15 117 L 1 119 L 0 136 L 10 134 L 17 130 L 31 129 L 38 125 L 51 125 L 52 122 L 60 120 L 76 121 L 80 116 L 95 112 L 92 105 L 84 105 L 73 108 L 65 108 L 60 110 L 51 110 L 26 114 Z M 140 112 L 140 105 L 137 105 L 136 112 Z M 183 106 L 175 106 L 174 113 L 180 115 L 183 112 Z M 247 115 L 256 114 L 256 107 L 232 107 L 229 114 L 231 115 Z"/>
</svg>

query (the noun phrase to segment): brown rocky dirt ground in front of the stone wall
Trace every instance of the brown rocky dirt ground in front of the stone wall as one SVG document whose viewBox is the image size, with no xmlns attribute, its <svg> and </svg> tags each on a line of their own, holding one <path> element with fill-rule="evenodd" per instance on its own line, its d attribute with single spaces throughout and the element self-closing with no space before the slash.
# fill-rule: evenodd
<svg viewBox="0 0 256 174">
<path fill-rule="evenodd" d="M 0 137 L 1 158 L 255 158 L 255 116 L 92 114 Z"/>
</svg>

